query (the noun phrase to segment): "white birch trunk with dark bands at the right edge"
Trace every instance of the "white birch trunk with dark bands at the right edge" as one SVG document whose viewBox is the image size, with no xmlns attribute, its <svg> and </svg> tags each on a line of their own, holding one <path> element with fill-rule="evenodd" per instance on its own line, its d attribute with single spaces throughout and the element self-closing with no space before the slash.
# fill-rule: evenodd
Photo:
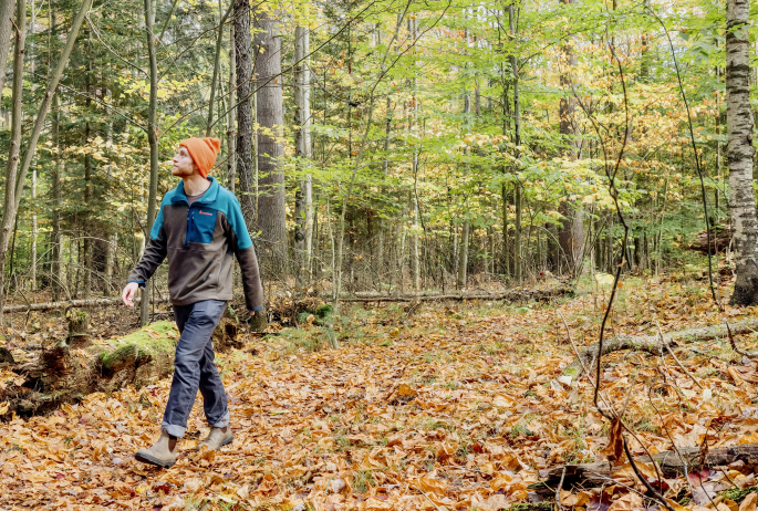
<svg viewBox="0 0 758 511">
<path fill-rule="evenodd" d="M 737 281 L 731 305 L 758 303 L 758 220 L 752 190 L 754 118 L 750 109 L 748 0 L 727 0 L 726 119 L 729 209 L 735 231 Z"/>
</svg>

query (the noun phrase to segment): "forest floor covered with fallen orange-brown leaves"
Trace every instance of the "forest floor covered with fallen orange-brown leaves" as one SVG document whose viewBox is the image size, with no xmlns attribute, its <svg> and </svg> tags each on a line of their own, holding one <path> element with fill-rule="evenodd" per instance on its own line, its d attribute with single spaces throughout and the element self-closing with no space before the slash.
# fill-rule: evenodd
<svg viewBox="0 0 758 511">
<path fill-rule="evenodd" d="M 198 396 L 177 463 L 143 465 L 133 455 L 157 437 L 170 379 L 90 395 L 46 417 L 0 424 L 0 510 L 495 511 L 536 500 L 528 486 L 539 469 L 604 459 L 609 426 L 589 379 L 567 387 L 554 378 L 574 357 L 561 315 L 574 342 L 591 344 L 606 298 L 588 288 L 550 304 L 424 303 L 412 317 L 398 305 L 353 306 L 333 325 L 339 350 L 311 323 L 248 335 L 243 350 L 217 358 L 231 446 L 195 452 L 206 434 Z M 704 281 L 629 279 L 609 335 L 653 334 L 656 321 L 668 332 L 757 313 L 720 313 Z M 755 350 L 758 337 L 739 343 Z M 756 364 L 724 340 L 674 352 L 707 392 L 671 355 L 603 358 L 602 393 L 619 411 L 627 401 L 625 421 L 645 447 L 699 446 L 704 437 L 712 448 L 758 442 Z M 0 382 L 12 377 L 6 372 Z M 635 440 L 630 446 L 643 452 Z M 603 490 L 561 492 L 563 509 L 652 505 L 630 492 L 642 487 L 629 470 L 615 479 Z M 709 497 L 733 482 L 756 484 L 744 467 L 700 480 L 694 496 L 684 478 L 668 480 L 666 497 L 714 508 Z M 737 511 L 725 502 L 716 502 L 718 511 Z M 755 500 L 744 508 L 755 511 Z"/>
</svg>

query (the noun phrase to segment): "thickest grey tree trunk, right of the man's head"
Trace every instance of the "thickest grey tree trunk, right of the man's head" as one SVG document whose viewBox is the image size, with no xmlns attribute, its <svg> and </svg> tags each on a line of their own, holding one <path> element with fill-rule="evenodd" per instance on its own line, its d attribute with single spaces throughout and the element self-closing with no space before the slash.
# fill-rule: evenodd
<svg viewBox="0 0 758 511">
<path fill-rule="evenodd" d="M 287 269 L 284 171 L 281 157 L 283 119 L 281 36 L 278 22 L 264 11 L 255 17 L 256 84 L 258 123 L 258 217 L 261 232 L 260 259 L 268 271 L 283 277 Z M 273 132 L 273 136 L 269 133 Z"/>
</svg>

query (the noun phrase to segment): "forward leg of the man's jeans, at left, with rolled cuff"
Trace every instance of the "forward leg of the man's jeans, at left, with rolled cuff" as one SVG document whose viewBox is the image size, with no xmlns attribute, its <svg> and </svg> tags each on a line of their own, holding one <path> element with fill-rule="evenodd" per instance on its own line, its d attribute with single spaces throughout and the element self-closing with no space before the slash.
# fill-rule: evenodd
<svg viewBox="0 0 758 511">
<path fill-rule="evenodd" d="M 174 379 L 162 425 L 162 428 L 169 435 L 183 437 L 187 429 L 187 419 L 193 410 L 200 384 L 200 366 L 206 356 L 206 346 L 210 343 L 214 330 L 225 309 L 226 302 L 219 300 L 195 303 L 184 322 L 184 327 L 180 327 L 181 335 L 176 346 L 174 361 Z M 224 406 L 226 408 L 226 399 Z"/>
</svg>

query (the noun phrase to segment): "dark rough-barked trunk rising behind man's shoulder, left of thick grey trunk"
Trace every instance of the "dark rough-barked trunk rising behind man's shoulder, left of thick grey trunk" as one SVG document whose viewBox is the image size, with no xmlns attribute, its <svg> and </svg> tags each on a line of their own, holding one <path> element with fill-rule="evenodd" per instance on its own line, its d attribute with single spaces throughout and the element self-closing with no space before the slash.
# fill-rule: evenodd
<svg viewBox="0 0 758 511">
<path fill-rule="evenodd" d="M 250 1 L 235 0 L 235 53 L 237 83 L 237 174 L 239 201 L 248 227 L 256 225 L 255 168 L 252 163 L 252 42 Z"/>
</svg>

